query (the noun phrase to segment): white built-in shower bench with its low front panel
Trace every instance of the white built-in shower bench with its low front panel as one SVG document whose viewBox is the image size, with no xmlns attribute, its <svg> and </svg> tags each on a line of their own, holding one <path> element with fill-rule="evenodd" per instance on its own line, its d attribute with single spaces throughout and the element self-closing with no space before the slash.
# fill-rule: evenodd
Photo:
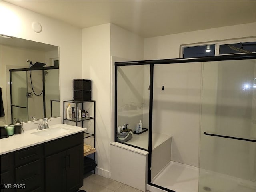
<svg viewBox="0 0 256 192">
<path fill-rule="evenodd" d="M 152 178 L 170 162 L 171 140 L 172 136 L 152 133 Z M 126 143 L 148 149 L 148 131 L 140 135 L 133 134 L 132 139 Z M 148 154 L 149 152 L 146 150 L 119 142 L 111 142 L 110 178 L 138 190 L 146 191 Z"/>
</svg>

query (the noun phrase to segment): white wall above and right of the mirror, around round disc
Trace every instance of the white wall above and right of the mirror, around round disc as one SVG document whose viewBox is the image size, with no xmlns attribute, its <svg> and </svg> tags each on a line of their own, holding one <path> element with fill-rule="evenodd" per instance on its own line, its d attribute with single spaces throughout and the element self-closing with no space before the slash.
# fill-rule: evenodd
<svg viewBox="0 0 256 192">
<path fill-rule="evenodd" d="M 82 78 L 81 29 L 38 13 L 1 1 L 0 34 L 59 46 L 60 111 L 62 101 L 72 99 L 72 81 Z M 36 33 L 32 23 L 39 22 L 42 32 Z"/>
</svg>

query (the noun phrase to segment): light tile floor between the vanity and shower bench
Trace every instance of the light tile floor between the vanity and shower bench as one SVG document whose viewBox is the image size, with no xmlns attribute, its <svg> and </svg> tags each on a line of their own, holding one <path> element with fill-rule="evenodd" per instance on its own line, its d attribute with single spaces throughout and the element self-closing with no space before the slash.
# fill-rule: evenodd
<svg viewBox="0 0 256 192">
<path fill-rule="evenodd" d="M 85 190 L 86 192 L 142 192 L 97 174 L 85 175 L 84 186 L 80 190 Z"/>
</svg>

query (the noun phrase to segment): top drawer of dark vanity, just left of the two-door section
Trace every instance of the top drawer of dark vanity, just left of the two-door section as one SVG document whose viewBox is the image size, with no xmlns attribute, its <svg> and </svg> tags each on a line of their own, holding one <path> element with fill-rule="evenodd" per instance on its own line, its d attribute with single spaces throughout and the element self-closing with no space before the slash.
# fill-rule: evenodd
<svg viewBox="0 0 256 192">
<path fill-rule="evenodd" d="M 36 146 L 20 152 L 15 153 L 15 165 L 16 167 L 30 163 L 35 160 L 39 160 L 42 154 L 42 147 Z"/>
</svg>

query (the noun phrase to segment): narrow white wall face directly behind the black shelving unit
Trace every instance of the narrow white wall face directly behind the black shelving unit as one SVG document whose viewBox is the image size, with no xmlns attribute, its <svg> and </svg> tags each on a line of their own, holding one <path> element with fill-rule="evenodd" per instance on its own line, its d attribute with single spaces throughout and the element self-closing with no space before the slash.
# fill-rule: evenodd
<svg viewBox="0 0 256 192">
<path fill-rule="evenodd" d="M 110 24 L 82 29 L 82 78 L 92 79 L 96 100 L 96 172 L 110 170 Z"/>
</svg>

